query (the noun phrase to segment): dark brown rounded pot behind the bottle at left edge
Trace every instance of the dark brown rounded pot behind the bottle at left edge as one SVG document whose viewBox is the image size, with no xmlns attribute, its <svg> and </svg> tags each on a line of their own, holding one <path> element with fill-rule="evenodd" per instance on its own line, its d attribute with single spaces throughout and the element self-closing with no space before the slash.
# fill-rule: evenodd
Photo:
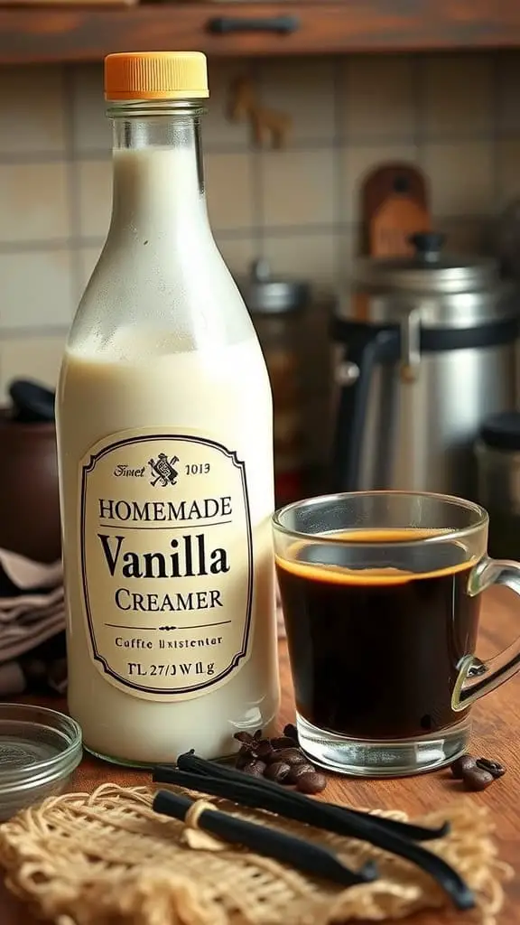
<svg viewBox="0 0 520 925">
<path fill-rule="evenodd" d="M 0 410 L 0 547 L 29 559 L 61 555 L 54 423 L 21 424 Z"/>
</svg>

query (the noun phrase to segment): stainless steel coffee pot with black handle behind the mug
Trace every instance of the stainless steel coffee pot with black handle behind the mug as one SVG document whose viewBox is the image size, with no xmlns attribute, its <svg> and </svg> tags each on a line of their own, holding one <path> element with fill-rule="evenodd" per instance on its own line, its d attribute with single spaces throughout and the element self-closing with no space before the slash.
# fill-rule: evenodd
<svg viewBox="0 0 520 925">
<path fill-rule="evenodd" d="M 440 234 L 411 240 L 412 258 L 359 262 L 356 316 L 334 320 L 331 488 L 475 498 L 480 425 L 516 406 L 518 290 Z"/>
</svg>

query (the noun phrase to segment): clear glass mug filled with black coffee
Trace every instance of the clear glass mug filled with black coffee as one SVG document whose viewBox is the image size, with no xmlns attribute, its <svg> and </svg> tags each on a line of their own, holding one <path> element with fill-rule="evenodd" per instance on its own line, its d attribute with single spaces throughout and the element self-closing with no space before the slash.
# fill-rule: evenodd
<svg viewBox="0 0 520 925">
<path fill-rule="evenodd" d="M 367 491 L 274 514 L 301 744 L 334 771 L 430 771 L 467 748 L 471 704 L 520 667 L 520 638 L 475 656 L 480 593 L 520 594 L 487 555 L 488 513 L 445 495 Z"/>
</svg>

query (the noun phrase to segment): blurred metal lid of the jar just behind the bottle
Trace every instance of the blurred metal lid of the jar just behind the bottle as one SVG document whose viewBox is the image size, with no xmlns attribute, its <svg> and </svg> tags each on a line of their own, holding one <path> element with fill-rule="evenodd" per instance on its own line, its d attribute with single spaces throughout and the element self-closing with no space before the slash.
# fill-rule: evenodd
<svg viewBox="0 0 520 925">
<path fill-rule="evenodd" d="M 242 298 L 252 313 L 291 312 L 303 308 L 310 294 L 310 286 L 304 280 L 271 277 L 271 268 L 263 258 L 254 261 L 250 276 L 240 280 L 238 285 Z"/>
</svg>

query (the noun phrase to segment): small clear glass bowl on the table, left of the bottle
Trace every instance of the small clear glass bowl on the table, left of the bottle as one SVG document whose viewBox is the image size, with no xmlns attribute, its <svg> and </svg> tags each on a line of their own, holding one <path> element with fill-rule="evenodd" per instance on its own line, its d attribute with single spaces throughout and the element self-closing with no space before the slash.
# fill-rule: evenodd
<svg viewBox="0 0 520 925">
<path fill-rule="evenodd" d="M 0 703 L 0 822 L 61 793 L 81 757 L 77 722 L 54 709 Z"/>
</svg>

